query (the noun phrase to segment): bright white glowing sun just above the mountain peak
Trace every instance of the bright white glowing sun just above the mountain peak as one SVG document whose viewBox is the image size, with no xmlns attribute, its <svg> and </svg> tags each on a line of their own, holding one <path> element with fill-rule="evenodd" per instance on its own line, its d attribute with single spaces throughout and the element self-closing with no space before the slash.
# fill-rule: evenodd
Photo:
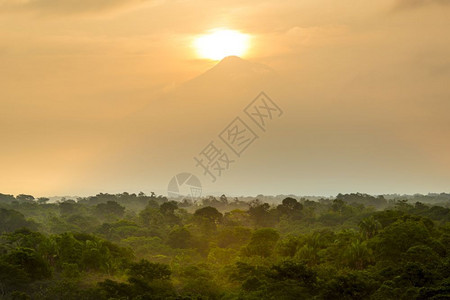
<svg viewBox="0 0 450 300">
<path fill-rule="evenodd" d="M 248 34 L 229 29 L 213 29 L 194 40 L 197 55 L 201 58 L 221 60 L 230 55 L 244 56 L 249 47 Z"/>
</svg>

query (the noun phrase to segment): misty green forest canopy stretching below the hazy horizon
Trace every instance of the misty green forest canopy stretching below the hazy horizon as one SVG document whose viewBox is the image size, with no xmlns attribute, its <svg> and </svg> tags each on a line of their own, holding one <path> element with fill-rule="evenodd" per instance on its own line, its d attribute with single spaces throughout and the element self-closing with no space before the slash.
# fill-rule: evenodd
<svg viewBox="0 0 450 300">
<path fill-rule="evenodd" d="M 450 299 L 450 195 L 0 194 L 2 299 Z"/>
</svg>

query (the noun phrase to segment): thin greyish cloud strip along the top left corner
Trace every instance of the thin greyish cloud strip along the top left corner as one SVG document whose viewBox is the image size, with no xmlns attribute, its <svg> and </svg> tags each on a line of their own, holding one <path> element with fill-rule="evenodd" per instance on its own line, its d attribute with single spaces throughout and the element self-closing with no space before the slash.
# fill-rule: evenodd
<svg viewBox="0 0 450 300">
<path fill-rule="evenodd" d="M 0 0 L 0 12 L 31 11 L 43 14 L 91 14 L 154 4 L 154 0 Z"/>
</svg>

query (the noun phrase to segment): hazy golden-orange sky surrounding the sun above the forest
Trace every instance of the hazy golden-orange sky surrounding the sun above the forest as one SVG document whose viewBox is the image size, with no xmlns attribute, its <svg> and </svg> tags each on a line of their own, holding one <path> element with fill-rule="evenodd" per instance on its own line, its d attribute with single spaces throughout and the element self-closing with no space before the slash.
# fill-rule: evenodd
<svg viewBox="0 0 450 300">
<path fill-rule="evenodd" d="M 245 61 L 199 57 L 214 28 Z M 450 192 L 449 28 L 448 0 L 0 0 L 0 193 Z M 193 157 L 260 91 L 283 114 L 212 182 Z"/>
</svg>

